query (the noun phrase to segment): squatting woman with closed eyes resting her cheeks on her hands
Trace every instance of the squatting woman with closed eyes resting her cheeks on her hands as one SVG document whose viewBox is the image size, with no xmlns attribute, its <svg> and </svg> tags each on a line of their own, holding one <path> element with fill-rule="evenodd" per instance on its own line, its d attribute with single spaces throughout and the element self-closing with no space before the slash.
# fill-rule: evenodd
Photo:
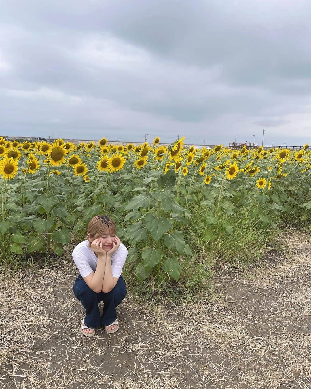
<svg viewBox="0 0 311 389">
<path fill-rule="evenodd" d="M 83 335 L 93 336 L 95 327 L 100 324 L 105 326 L 108 334 L 119 329 L 115 308 L 126 296 L 121 272 L 127 255 L 127 248 L 117 237 L 115 222 L 104 215 L 93 217 L 87 227 L 86 240 L 72 252 L 73 261 L 80 271 L 73 284 L 73 293 L 86 312 L 81 322 Z M 100 301 L 104 303 L 101 316 Z"/>
</svg>

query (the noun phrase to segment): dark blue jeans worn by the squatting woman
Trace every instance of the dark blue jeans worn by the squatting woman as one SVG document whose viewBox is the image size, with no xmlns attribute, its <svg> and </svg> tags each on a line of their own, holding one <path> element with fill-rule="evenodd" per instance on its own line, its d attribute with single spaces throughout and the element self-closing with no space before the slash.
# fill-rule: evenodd
<svg viewBox="0 0 311 389">
<path fill-rule="evenodd" d="M 117 319 L 117 307 L 126 296 L 126 287 L 122 275 L 115 287 L 108 293 L 94 292 L 79 274 L 73 284 L 73 294 L 85 308 L 84 324 L 89 328 L 109 326 Z M 100 317 L 98 304 L 103 301 L 103 314 Z"/>
</svg>

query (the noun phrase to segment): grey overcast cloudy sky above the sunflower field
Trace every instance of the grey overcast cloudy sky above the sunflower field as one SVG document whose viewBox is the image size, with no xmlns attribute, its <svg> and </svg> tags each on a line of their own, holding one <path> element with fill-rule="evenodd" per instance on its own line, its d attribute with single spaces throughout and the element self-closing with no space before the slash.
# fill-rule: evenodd
<svg viewBox="0 0 311 389">
<path fill-rule="evenodd" d="M 311 3 L 4 0 L 0 135 L 311 143 Z"/>
</svg>

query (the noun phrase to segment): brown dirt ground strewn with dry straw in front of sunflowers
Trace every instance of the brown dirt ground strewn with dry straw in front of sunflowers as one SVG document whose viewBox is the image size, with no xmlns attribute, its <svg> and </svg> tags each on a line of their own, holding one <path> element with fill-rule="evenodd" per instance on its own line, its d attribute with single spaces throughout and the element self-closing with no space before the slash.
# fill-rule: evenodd
<svg viewBox="0 0 311 389">
<path fill-rule="evenodd" d="M 119 331 L 92 338 L 80 333 L 69 258 L 2 277 L 0 387 L 309 389 L 311 237 L 283 239 L 286 257 L 224 271 L 203 301 L 138 304 L 128 291 Z"/>
</svg>

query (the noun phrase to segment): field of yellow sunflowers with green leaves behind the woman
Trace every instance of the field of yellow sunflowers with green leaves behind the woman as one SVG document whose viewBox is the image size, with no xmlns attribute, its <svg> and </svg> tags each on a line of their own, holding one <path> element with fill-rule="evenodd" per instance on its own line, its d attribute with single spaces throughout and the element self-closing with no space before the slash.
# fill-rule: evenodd
<svg viewBox="0 0 311 389">
<path fill-rule="evenodd" d="M 157 137 L 136 147 L 0 137 L 0 258 L 14 266 L 61 256 L 73 237 L 86 236 L 93 216 L 107 214 L 138 282 L 178 281 L 183 258 L 202 259 L 208 249 L 221 256 L 221 242 L 247 240 L 252 228 L 255 235 L 286 224 L 311 229 L 308 144 L 197 149 L 184 140 L 166 147 Z"/>
</svg>

